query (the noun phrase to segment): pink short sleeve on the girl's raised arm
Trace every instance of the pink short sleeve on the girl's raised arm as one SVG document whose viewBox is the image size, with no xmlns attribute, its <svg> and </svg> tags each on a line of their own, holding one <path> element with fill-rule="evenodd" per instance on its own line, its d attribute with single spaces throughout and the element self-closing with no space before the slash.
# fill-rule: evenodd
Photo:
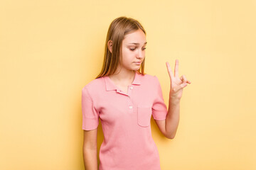
<svg viewBox="0 0 256 170">
<path fill-rule="evenodd" d="M 154 76 L 156 83 L 154 84 L 154 89 L 156 89 L 154 103 L 152 106 L 152 116 L 155 120 L 165 120 L 167 115 L 166 104 L 164 103 L 164 98 L 161 90 L 161 85 L 159 79 Z"/>
</svg>

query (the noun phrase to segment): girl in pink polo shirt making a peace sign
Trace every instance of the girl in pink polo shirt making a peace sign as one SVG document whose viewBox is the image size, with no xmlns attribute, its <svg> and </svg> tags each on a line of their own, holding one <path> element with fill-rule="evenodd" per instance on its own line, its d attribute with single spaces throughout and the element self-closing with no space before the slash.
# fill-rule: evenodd
<svg viewBox="0 0 256 170">
<path fill-rule="evenodd" d="M 144 72 L 146 31 L 133 18 L 119 17 L 110 24 L 102 71 L 82 89 L 83 158 L 85 169 L 97 169 L 97 127 L 102 123 L 100 170 L 160 170 L 159 152 L 151 136 L 151 115 L 163 135 L 173 139 L 179 121 L 183 87 L 169 63 L 169 109 L 159 79 Z"/>
</svg>

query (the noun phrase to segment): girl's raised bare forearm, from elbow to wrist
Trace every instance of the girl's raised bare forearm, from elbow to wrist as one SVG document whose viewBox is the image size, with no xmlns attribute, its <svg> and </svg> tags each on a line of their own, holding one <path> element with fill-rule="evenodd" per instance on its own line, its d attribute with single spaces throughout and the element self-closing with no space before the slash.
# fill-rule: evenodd
<svg viewBox="0 0 256 170">
<path fill-rule="evenodd" d="M 169 108 L 166 115 L 166 137 L 173 139 L 179 122 L 180 100 L 169 97 Z"/>
</svg>

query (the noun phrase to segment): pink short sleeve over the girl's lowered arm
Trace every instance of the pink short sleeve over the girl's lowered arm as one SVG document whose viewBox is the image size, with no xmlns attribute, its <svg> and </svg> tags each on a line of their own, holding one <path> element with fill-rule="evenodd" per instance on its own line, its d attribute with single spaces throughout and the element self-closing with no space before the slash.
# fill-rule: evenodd
<svg viewBox="0 0 256 170">
<path fill-rule="evenodd" d="M 93 105 L 86 86 L 82 89 L 82 130 L 93 130 L 99 125 L 99 113 Z"/>
</svg>

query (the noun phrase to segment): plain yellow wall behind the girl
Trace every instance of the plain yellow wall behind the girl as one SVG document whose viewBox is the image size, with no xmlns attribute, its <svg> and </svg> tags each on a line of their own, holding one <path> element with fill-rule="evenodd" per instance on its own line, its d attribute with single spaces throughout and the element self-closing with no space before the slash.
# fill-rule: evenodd
<svg viewBox="0 0 256 170">
<path fill-rule="evenodd" d="M 165 62 L 192 82 L 174 140 L 151 119 L 161 169 L 256 169 L 255 0 L 1 1 L 0 169 L 83 169 L 82 87 L 119 16 L 146 29 L 166 106 Z M 102 140 L 100 124 L 98 152 Z"/>
</svg>

